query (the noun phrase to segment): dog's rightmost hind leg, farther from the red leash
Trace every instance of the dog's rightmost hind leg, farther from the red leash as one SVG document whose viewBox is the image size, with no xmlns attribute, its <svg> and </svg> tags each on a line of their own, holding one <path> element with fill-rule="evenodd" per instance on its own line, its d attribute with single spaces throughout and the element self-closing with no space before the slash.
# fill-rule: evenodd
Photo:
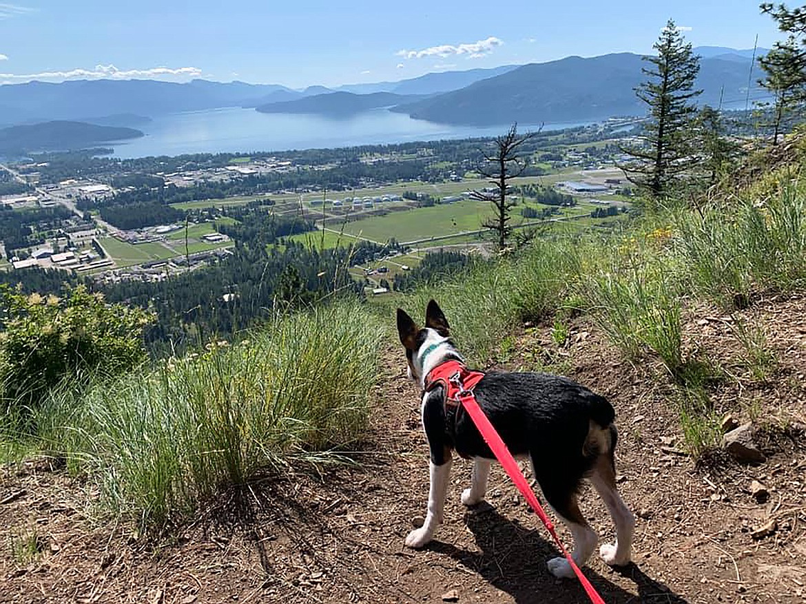
<svg viewBox="0 0 806 604">
<path fill-rule="evenodd" d="M 603 544 L 599 549 L 599 554 L 608 565 L 628 565 L 633 548 L 635 516 L 629 511 L 616 489 L 616 466 L 613 463 L 612 451 L 599 456 L 588 480 L 605 502 L 610 517 L 616 525 L 616 543 Z"/>
</svg>

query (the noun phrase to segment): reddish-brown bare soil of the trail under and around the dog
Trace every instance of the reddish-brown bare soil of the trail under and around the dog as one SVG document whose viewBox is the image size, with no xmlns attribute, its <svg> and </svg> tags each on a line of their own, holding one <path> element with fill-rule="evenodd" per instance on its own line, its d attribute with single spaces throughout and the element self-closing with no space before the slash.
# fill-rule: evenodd
<svg viewBox="0 0 806 604">
<path fill-rule="evenodd" d="M 775 352 L 766 375 L 747 370 L 737 318 Z M 634 564 L 611 569 L 594 556 L 585 569 L 605 602 L 806 602 L 806 298 L 762 300 L 737 316 L 691 308 L 684 341 L 690 358 L 707 351 L 732 376 L 712 386 L 715 411 L 752 420 L 767 461 L 740 465 L 717 450 L 694 463 L 662 366 L 626 361 L 584 317 L 561 345 L 550 327 L 524 326 L 488 366 L 548 367 L 617 409 L 618 481 L 638 528 Z M 357 464 L 228 490 L 159 537 L 99 520 L 98 492 L 48 460 L 6 468 L 0 603 L 588 602 L 576 581 L 547 572 L 555 546 L 500 469 L 488 501 L 466 509 L 471 463 L 456 460 L 436 539 L 403 547 L 425 512 L 427 449 L 401 352 L 390 348 L 384 366 Z M 766 498 L 751 494 L 754 480 Z M 581 500 L 602 542 L 613 540 L 592 489 Z"/>
</svg>

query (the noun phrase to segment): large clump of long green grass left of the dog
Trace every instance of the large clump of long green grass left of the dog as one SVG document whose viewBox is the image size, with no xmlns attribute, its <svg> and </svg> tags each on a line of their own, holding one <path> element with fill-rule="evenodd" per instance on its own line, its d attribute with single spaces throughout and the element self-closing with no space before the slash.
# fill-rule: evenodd
<svg viewBox="0 0 806 604">
<path fill-rule="evenodd" d="M 366 436 L 382 333 L 354 304 L 278 316 L 237 345 L 57 392 L 39 437 L 111 511 L 162 523 L 267 468 L 345 461 Z"/>
</svg>

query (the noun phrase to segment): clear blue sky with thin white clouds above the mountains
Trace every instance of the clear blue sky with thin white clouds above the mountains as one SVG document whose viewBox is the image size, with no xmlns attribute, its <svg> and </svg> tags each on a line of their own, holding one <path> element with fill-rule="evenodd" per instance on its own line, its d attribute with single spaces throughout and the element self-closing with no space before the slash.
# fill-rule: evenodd
<svg viewBox="0 0 806 604">
<path fill-rule="evenodd" d="M 796 2 L 797 3 L 797 2 Z M 749 0 L 0 2 L 0 82 L 241 80 L 294 88 L 651 52 L 669 18 L 695 46 L 769 48 Z"/>
</svg>

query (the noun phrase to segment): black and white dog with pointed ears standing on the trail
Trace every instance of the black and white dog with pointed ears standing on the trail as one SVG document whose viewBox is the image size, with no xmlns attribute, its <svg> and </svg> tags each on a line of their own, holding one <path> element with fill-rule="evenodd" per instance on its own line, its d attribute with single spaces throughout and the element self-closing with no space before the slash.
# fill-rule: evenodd
<svg viewBox="0 0 806 604">
<path fill-rule="evenodd" d="M 397 331 L 405 346 L 409 378 L 424 390 L 422 423 L 430 448 L 428 511 L 422 527 L 405 539 L 410 548 L 420 548 L 432 539 L 442 522 L 452 451 L 474 460 L 471 486 L 462 493 L 466 506 L 484 499 L 490 463 L 495 457 L 463 409 L 447 404 L 444 383 L 432 384 L 427 379 L 444 363 L 463 362 L 438 304 L 429 302 L 422 329 L 398 308 Z M 530 457 L 534 478 L 546 501 L 574 537 L 571 556 L 575 563 L 584 565 L 596 548 L 596 532 L 577 503 L 580 483 L 588 478 L 616 525 L 616 543 L 602 545 L 600 555 L 609 565 L 628 564 L 635 518 L 616 489 L 616 414 L 611 404 L 570 379 L 537 373 L 491 372 L 484 375 L 473 392 L 510 453 Z M 574 577 L 571 565 L 562 557 L 548 561 L 548 569 L 555 577 Z"/>
</svg>

